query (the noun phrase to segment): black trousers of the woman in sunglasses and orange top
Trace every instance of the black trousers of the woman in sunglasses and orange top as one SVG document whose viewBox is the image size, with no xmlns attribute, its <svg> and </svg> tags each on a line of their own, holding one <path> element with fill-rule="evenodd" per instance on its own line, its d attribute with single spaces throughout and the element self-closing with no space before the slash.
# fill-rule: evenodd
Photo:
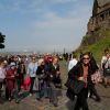
<svg viewBox="0 0 110 110">
<path fill-rule="evenodd" d="M 87 97 L 88 97 L 88 88 L 84 88 L 80 94 L 77 96 L 77 101 L 75 105 L 74 110 L 89 110 L 88 103 L 87 103 Z"/>
</svg>

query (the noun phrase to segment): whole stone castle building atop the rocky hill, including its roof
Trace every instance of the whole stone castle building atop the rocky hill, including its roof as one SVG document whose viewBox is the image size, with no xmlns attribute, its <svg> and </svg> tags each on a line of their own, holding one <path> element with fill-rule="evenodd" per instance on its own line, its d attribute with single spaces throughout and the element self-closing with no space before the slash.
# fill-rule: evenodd
<svg viewBox="0 0 110 110">
<path fill-rule="evenodd" d="M 88 22 L 88 34 L 99 29 L 110 29 L 110 0 L 95 0 L 92 16 Z"/>
</svg>

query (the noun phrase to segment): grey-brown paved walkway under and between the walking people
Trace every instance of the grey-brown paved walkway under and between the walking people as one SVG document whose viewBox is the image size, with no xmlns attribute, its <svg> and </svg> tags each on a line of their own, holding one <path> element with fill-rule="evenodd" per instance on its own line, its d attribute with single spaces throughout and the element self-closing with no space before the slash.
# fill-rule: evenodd
<svg viewBox="0 0 110 110">
<path fill-rule="evenodd" d="M 67 78 L 67 68 L 62 64 L 62 77 L 63 84 Z M 110 87 L 105 88 L 102 85 L 97 86 L 97 90 L 101 97 L 101 102 L 96 102 L 94 99 L 88 99 L 90 110 L 110 110 Z M 75 101 L 68 100 L 65 95 L 66 88 L 63 87 L 62 90 L 58 90 L 58 107 L 55 108 L 50 103 L 48 99 L 43 101 L 37 101 L 35 95 L 30 97 L 28 94 L 24 94 L 20 103 L 15 103 L 14 100 L 9 102 L 0 99 L 0 110 L 74 110 Z"/>
</svg>

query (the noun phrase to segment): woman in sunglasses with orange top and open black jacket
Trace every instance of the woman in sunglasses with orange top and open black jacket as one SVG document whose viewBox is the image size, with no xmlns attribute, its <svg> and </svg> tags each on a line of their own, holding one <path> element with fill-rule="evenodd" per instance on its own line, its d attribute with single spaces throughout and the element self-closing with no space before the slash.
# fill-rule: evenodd
<svg viewBox="0 0 110 110">
<path fill-rule="evenodd" d="M 77 82 L 82 81 L 85 84 L 82 89 L 77 95 L 77 101 L 74 110 L 80 110 L 80 109 L 89 110 L 87 98 L 88 98 L 88 89 L 92 85 L 91 81 L 92 74 L 94 72 L 90 66 L 89 53 L 85 53 L 81 56 L 81 61 L 75 67 L 73 67 L 68 73 L 68 77 L 70 79 L 77 80 Z"/>
</svg>

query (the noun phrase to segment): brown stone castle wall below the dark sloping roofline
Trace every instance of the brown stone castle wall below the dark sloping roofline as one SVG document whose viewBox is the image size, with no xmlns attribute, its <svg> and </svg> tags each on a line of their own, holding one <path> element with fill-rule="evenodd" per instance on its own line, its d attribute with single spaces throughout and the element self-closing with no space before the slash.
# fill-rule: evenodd
<svg viewBox="0 0 110 110">
<path fill-rule="evenodd" d="M 96 16 L 91 16 L 88 22 L 88 33 L 99 30 L 100 28 L 110 29 L 110 3 L 98 8 Z"/>
</svg>

